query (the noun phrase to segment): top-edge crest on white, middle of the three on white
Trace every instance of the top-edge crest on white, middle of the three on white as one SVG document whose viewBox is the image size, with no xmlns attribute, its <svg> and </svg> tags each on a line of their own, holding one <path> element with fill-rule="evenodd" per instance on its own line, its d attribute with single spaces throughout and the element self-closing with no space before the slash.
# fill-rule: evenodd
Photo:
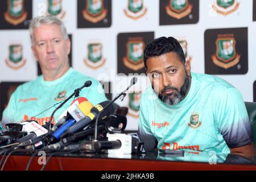
<svg viewBox="0 0 256 182">
<path fill-rule="evenodd" d="M 147 9 L 143 5 L 143 0 L 128 0 L 128 5 L 123 11 L 126 16 L 135 20 L 147 13 Z"/>
</svg>

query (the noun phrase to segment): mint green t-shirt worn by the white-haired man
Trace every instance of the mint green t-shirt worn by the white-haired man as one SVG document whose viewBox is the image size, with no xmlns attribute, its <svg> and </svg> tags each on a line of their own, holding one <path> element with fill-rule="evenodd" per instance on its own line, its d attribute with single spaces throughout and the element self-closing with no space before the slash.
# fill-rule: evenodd
<svg viewBox="0 0 256 182">
<path fill-rule="evenodd" d="M 79 97 L 85 97 L 93 105 L 106 101 L 104 90 L 101 84 L 92 77 L 82 75 L 69 68 L 68 72 L 54 81 L 45 81 L 43 76 L 39 76 L 34 81 L 26 82 L 18 86 L 11 95 L 9 104 L 3 111 L 2 124 L 9 122 L 21 122 L 28 119 L 38 121 L 40 125 L 49 122 L 53 110 L 68 98 L 75 89 L 84 85 L 85 81 L 92 81 L 92 85 L 83 88 Z M 54 114 L 53 121 L 71 105 L 75 98 L 71 98 Z M 55 107 L 47 110 L 49 107 Z M 44 111 L 47 110 L 47 111 Z M 40 114 L 44 111 L 42 114 Z"/>
</svg>

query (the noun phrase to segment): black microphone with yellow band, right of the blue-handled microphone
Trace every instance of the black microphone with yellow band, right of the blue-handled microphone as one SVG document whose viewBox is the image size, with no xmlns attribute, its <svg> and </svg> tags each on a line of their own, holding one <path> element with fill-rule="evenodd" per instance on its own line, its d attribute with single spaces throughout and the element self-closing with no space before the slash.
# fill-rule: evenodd
<svg viewBox="0 0 256 182">
<path fill-rule="evenodd" d="M 112 114 L 114 112 L 113 106 L 108 109 L 105 109 L 103 112 L 102 112 L 102 110 L 104 109 L 105 106 L 109 105 L 109 103 L 110 103 L 110 101 L 104 101 L 104 102 L 101 102 L 100 104 L 92 107 L 92 109 L 90 110 L 90 113 L 88 115 L 86 115 L 85 118 L 81 119 L 79 122 L 76 122 L 75 125 L 69 127 L 69 129 L 67 131 L 65 131 L 63 133 L 63 135 L 61 135 L 60 138 L 64 138 L 68 134 L 73 134 L 76 131 L 84 129 L 84 127 L 90 125 L 90 123 L 92 123 L 94 121 L 94 119 L 98 116 L 99 113 L 102 113 L 101 120 L 108 117 L 110 114 Z"/>
</svg>

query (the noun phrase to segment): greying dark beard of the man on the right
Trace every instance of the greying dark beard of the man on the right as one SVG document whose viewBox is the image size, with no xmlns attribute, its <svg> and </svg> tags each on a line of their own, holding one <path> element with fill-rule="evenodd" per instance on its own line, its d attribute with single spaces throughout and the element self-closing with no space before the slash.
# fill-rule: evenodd
<svg viewBox="0 0 256 182">
<path fill-rule="evenodd" d="M 189 88 L 189 84 L 190 84 L 189 78 L 186 75 L 185 82 L 181 86 L 180 91 L 176 87 L 169 85 L 169 86 L 166 86 L 166 87 L 163 88 L 162 94 L 159 94 L 158 97 L 160 98 L 160 100 L 162 100 L 167 105 L 178 104 L 179 102 L 184 100 L 184 98 L 187 94 L 188 88 Z M 171 94 L 164 94 L 164 91 L 166 91 L 168 89 L 174 89 L 174 90 L 176 90 L 176 92 L 174 91 Z M 172 96 L 172 98 L 170 98 L 170 96 Z"/>
</svg>

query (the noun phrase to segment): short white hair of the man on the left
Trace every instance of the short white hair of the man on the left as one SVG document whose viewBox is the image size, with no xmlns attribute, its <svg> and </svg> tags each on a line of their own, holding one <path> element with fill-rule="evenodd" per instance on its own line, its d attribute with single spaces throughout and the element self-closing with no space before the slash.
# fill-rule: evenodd
<svg viewBox="0 0 256 182">
<path fill-rule="evenodd" d="M 61 19 L 57 18 L 56 16 L 38 16 L 30 21 L 30 27 L 28 30 L 30 31 L 30 39 L 31 44 L 34 45 L 34 29 L 39 27 L 42 24 L 57 24 L 60 26 L 60 31 L 64 36 L 64 39 L 68 39 L 67 28 L 65 27 L 64 23 Z"/>
</svg>

